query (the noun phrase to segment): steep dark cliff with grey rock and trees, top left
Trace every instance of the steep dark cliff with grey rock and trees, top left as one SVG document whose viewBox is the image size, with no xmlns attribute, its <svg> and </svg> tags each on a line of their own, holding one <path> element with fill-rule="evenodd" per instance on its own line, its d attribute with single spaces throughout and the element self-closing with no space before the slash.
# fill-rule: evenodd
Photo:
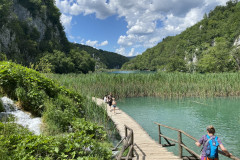
<svg viewBox="0 0 240 160">
<path fill-rule="evenodd" d="M 54 0 L 1 0 L 0 52 L 19 63 L 36 62 L 43 52 L 69 52 Z"/>
</svg>

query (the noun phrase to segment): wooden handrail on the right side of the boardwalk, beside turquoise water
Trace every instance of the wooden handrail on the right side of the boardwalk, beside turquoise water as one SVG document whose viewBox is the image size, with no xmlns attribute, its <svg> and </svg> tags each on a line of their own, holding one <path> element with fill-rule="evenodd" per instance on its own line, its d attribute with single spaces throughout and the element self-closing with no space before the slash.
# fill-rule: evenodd
<svg viewBox="0 0 240 160">
<path fill-rule="evenodd" d="M 195 142 L 197 142 L 198 140 L 194 137 L 192 137 L 191 135 L 187 134 L 186 132 L 180 130 L 180 129 L 176 129 L 176 128 L 173 128 L 173 127 L 169 127 L 169 126 L 166 126 L 166 125 L 163 125 L 163 124 L 159 124 L 157 122 L 154 122 L 155 124 L 158 125 L 158 131 L 159 131 L 159 144 L 162 144 L 161 143 L 161 137 L 163 137 L 167 142 L 168 140 L 172 141 L 172 142 L 175 142 L 175 143 L 178 143 L 179 145 L 179 157 L 182 158 L 183 155 L 182 155 L 182 148 L 186 149 L 191 155 L 193 155 L 194 157 L 200 159 L 200 155 L 198 155 L 197 153 L 195 153 L 194 151 L 192 151 L 191 149 L 189 149 L 185 144 L 183 144 L 182 142 L 182 134 L 184 134 L 185 136 L 189 137 L 190 139 L 194 140 Z M 161 133 L 161 129 L 160 129 L 160 126 L 162 127 L 165 127 L 165 128 L 168 128 L 168 129 L 171 129 L 171 130 L 174 130 L 174 131 L 177 131 L 178 132 L 178 140 L 174 140 L 172 138 L 169 138 L 169 137 L 166 137 L 164 136 L 162 133 Z M 168 142 L 169 143 L 169 142 Z M 162 146 L 165 146 L 165 145 L 162 145 Z M 167 145 L 169 146 L 169 145 Z M 172 145 L 170 145 L 172 146 Z M 231 158 L 231 159 L 234 159 L 234 160 L 240 160 L 238 157 L 235 157 L 235 156 L 227 156 L 224 152 L 222 151 L 218 151 L 218 153 L 228 157 L 228 158 Z"/>
</svg>

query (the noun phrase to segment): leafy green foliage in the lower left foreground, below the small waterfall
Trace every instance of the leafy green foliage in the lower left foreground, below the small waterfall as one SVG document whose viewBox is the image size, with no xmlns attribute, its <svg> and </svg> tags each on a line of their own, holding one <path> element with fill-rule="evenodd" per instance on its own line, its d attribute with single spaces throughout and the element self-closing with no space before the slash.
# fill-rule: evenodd
<svg viewBox="0 0 240 160">
<path fill-rule="evenodd" d="M 83 119 L 78 122 L 75 132 L 44 136 L 33 135 L 27 129 L 12 123 L 0 122 L 0 158 L 1 159 L 110 159 L 111 151 L 104 139 L 96 133 L 103 132 L 101 128 Z M 89 132 L 91 131 L 91 132 Z M 99 139 L 100 138 L 100 139 Z"/>
</svg>

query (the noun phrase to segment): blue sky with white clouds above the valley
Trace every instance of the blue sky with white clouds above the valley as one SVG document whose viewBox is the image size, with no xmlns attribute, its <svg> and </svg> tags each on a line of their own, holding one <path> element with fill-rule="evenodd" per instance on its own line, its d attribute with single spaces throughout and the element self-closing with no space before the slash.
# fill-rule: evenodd
<svg viewBox="0 0 240 160">
<path fill-rule="evenodd" d="M 56 0 L 70 42 L 142 54 L 228 0 Z"/>
</svg>

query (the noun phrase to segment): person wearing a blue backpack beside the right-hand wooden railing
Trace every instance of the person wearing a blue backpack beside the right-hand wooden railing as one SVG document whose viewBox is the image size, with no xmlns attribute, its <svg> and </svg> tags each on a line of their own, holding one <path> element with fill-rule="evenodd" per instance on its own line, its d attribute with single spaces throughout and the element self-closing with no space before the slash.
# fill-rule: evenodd
<svg viewBox="0 0 240 160">
<path fill-rule="evenodd" d="M 232 155 L 224 148 L 221 140 L 217 136 L 214 136 L 214 133 L 215 128 L 208 126 L 207 134 L 195 143 L 198 147 L 203 145 L 201 160 L 218 160 L 218 146 L 227 156 L 230 157 Z"/>
</svg>

